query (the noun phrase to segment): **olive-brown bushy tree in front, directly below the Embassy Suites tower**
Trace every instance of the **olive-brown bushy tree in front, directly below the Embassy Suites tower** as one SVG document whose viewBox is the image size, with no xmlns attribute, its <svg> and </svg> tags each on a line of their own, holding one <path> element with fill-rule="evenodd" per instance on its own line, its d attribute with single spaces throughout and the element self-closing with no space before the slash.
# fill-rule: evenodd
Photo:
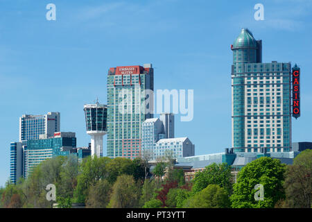
<svg viewBox="0 0 312 222">
<path fill-rule="evenodd" d="M 133 176 L 121 175 L 112 189 L 109 208 L 134 208 L 139 205 L 140 189 Z"/>
</svg>

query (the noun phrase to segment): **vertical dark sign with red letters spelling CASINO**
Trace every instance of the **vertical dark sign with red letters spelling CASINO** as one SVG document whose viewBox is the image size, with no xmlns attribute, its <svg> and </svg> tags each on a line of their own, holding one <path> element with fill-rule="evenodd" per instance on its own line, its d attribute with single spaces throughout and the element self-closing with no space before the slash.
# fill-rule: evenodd
<svg viewBox="0 0 312 222">
<path fill-rule="evenodd" d="M 300 68 L 293 67 L 293 117 L 300 117 Z"/>
</svg>

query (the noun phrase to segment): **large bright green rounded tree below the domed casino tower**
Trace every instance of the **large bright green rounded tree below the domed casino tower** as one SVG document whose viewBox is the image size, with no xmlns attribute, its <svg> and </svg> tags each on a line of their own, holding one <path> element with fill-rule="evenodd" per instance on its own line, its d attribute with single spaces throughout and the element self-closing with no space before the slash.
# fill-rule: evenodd
<svg viewBox="0 0 312 222">
<path fill-rule="evenodd" d="M 278 200 L 285 197 L 283 188 L 286 165 L 270 157 L 260 157 L 254 160 L 239 172 L 231 196 L 234 208 L 263 208 L 274 207 Z M 255 185 L 261 184 L 264 188 L 264 199 L 255 200 Z"/>
</svg>

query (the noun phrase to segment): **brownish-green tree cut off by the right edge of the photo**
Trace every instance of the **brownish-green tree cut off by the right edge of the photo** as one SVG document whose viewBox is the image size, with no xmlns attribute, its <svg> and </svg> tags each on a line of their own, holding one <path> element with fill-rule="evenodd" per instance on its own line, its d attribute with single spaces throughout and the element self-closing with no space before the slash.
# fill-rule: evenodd
<svg viewBox="0 0 312 222">
<path fill-rule="evenodd" d="M 285 174 L 286 206 L 310 208 L 312 206 L 312 150 L 302 151 L 287 166 Z"/>
</svg>

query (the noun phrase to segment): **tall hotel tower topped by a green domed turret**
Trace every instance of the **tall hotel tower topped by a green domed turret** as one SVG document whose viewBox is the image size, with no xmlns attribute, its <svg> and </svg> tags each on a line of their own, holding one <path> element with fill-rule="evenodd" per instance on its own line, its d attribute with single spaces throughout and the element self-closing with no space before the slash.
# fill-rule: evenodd
<svg viewBox="0 0 312 222">
<path fill-rule="evenodd" d="M 247 28 L 231 49 L 234 152 L 291 151 L 291 63 L 262 63 L 262 41 Z"/>
</svg>

